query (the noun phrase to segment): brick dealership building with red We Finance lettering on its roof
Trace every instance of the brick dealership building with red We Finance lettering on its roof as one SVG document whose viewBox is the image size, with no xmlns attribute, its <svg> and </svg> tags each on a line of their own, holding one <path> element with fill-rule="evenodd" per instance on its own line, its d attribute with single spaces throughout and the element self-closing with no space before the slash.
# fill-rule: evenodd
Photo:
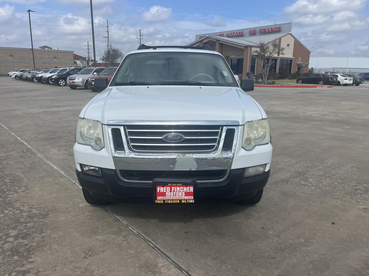
<svg viewBox="0 0 369 276">
<path fill-rule="evenodd" d="M 216 33 L 196 35 L 196 40 L 187 46 L 209 45 L 221 53 L 235 75 L 245 78 L 246 73 L 261 73 L 261 64 L 253 54 L 258 43 L 278 41 L 278 53 L 270 71 L 286 69 L 290 73 L 308 71 L 310 51 L 292 33 L 292 23 L 238 29 Z M 284 47 L 284 53 L 280 53 Z"/>
</svg>

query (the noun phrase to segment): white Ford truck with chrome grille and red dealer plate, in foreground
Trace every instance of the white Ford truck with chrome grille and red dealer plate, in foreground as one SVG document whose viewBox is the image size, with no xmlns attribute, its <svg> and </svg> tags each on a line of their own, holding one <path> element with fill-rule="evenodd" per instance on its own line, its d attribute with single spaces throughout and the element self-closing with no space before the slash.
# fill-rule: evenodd
<svg viewBox="0 0 369 276">
<path fill-rule="evenodd" d="M 146 46 L 124 57 L 82 109 L 76 174 L 89 204 L 260 201 L 272 159 L 269 125 L 210 46 Z"/>
</svg>

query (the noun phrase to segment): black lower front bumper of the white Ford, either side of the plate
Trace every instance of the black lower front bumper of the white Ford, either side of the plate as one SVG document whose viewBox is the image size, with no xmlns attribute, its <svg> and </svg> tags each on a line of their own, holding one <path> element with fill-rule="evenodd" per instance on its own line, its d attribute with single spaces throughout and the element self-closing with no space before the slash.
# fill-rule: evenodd
<svg viewBox="0 0 369 276">
<path fill-rule="evenodd" d="M 244 178 L 244 168 L 232 169 L 228 177 L 217 183 L 197 183 L 195 202 L 226 202 L 250 198 L 265 187 L 270 170 Z M 94 197 L 114 202 L 154 203 L 152 183 L 122 181 L 113 169 L 101 168 L 102 177 L 76 170 L 79 184 Z"/>
</svg>

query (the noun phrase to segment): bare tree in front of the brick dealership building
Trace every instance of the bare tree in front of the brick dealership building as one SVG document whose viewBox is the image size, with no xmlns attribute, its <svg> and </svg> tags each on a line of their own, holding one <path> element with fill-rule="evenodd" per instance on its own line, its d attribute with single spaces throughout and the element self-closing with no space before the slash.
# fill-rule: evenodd
<svg viewBox="0 0 369 276">
<path fill-rule="evenodd" d="M 278 50 L 278 41 L 274 40 L 272 43 L 259 42 L 257 43 L 259 49 L 254 50 L 252 54 L 256 55 L 256 61 L 261 66 L 261 73 L 263 75 L 263 82 L 268 81 L 268 74 L 270 67 L 275 62 L 273 56 L 284 54 L 284 47 Z"/>
</svg>

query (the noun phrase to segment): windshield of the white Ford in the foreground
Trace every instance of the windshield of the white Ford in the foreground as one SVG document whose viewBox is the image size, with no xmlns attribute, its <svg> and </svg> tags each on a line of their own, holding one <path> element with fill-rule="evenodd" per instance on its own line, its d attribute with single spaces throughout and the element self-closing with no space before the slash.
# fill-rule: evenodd
<svg viewBox="0 0 369 276">
<path fill-rule="evenodd" d="M 193 52 L 129 54 L 110 82 L 110 86 L 115 85 L 238 87 L 238 83 L 222 56 Z"/>
</svg>

